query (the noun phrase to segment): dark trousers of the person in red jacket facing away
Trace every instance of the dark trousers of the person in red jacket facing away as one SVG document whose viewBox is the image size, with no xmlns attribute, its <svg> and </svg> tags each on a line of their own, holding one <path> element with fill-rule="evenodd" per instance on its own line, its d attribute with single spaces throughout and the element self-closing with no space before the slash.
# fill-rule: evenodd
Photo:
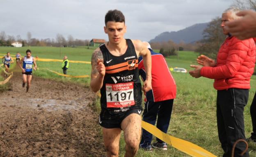
<svg viewBox="0 0 256 157">
<path fill-rule="evenodd" d="M 156 127 L 162 132 L 167 133 L 168 126 L 171 119 L 171 111 L 173 106 L 173 99 L 161 102 L 145 102 L 145 108 L 142 115 L 142 120 L 155 125 L 156 117 L 158 117 Z M 163 141 L 156 138 L 160 143 Z M 140 147 L 144 148 L 149 146 L 152 141 L 152 134 L 142 129 L 142 139 Z"/>
</svg>

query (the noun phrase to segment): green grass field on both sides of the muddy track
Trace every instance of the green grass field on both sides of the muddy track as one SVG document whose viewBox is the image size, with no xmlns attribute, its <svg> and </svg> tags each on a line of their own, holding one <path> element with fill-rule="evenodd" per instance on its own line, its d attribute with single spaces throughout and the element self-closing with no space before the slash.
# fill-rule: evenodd
<svg viewBox="0 0 256 157">
<path fill-rule="evenodd" d="M 30 49 L 32 55 L 37 55 L 39 58 L 54 58 L 62 59 L 64 55 L 68 55 L 69 60 L 90 61 L 93 49 L 87 47 L 77 48 L 56 48 L 56 47 L 0 47 L 0 53 L 16 54 L 20 51 L 22 55 L 25 50 Z M 59 55 L 59 52 L 61 54 Z M 2 55 L 0 55 L 2 56 Z M 179 51 L 178 57 L 171 56 L 166 58 L 169 67 L 182 67 L 191 70 L 190 64 L 196 64 L 195 60 L 198 54 L 190 51 Z M 84 86 L 89 85 L 89 78 L 68 78 L 58 76 L 54 73 L 46 71 L 48 68 L 53 71 L 62 73 L 61 62 L 37 62 L 39 70 L 33 72 L 34 75 L 46 78 L 52 78 L 59 81 L 76 82 Z M 70 63 L 68 69 L 69 75 L 90 75 L 91 65 L 82 63 Z M 213 80 L 201 77 L 199 79 L 192 78 L 188 73 L 172 72 L 177 84 L 177 98 L 174 100 L 173 113 L 169 125 L 168 134 L 174 137 L 185 139 L 189 142 L 197 144 L 210 151 L 214 155 L 222 156 L 222 148 L 219 143 L 217 134 L 216 122 L 216 95 L 217 91 L 213 88 Z M 251 90 L 249 102 L 245 107 L 245 131 L 249 137 L 251 127 L 251 117 L 249 107 L 256 89 L 256 76 L 251 78 Z M 155 138 L 153 138 L 155 140 Z M 123 138 L 120 141 L 120 156 L 123 157 L 125 150 Z M 256 145 L 249 144 L 250 156 L 256 156 Z M 189 157 L 168 146 L 167 151 L 154 150 L 153 153 L 148 153 L 139 150 L 136 157 Z"/>
</svg>

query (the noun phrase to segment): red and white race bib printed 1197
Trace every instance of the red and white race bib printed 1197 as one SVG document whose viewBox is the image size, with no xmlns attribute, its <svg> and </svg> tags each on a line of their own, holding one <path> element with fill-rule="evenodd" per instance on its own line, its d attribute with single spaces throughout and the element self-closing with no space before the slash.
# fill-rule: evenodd
<svg viewBox="0 0 256 157">
<path fill-rule="evenodd" d="M 107 108 L 121 108 L 135 105 L 133 82 L 106 84 Z"/>
</svg>

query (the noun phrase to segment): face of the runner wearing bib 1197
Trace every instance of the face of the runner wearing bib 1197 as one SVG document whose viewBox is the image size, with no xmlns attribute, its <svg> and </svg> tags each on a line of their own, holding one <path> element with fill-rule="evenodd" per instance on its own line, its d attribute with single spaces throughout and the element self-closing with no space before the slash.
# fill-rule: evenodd
<svg viewBox="0 0 256 157">
<path fill-rule="evenodd" d="M 124 22 L 107 22 L 104 27 L 105 33 L 108 35 L 108 40 L 111 43 L 119 44 L 123 40 L 124 33 L 126 33 L 126 25 Z"/>
</svg>

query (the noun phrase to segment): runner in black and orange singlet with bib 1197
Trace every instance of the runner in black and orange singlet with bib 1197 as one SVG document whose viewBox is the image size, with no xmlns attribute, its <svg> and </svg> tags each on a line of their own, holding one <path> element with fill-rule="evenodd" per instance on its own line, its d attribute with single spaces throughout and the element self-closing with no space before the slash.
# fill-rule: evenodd
<svg viewBox="0 0 256 157">
<path fill-rule="evenodd" d="M 134 157 L 141 137 L 142 92 L 138 72 L 138 56 L 142 55 L 146 70 L 144 91 L 151 87 L 151 54 L 140 40 L 124 39 L 125 18 L 121 11 L 105 15 L 105 33 L 109 42 L 97 48 L 91 57 L 91 89 L 101 90 L 103 141 L 108 157 L 118 157 L 123 130 L 125 157 Z"/>
</svg>

